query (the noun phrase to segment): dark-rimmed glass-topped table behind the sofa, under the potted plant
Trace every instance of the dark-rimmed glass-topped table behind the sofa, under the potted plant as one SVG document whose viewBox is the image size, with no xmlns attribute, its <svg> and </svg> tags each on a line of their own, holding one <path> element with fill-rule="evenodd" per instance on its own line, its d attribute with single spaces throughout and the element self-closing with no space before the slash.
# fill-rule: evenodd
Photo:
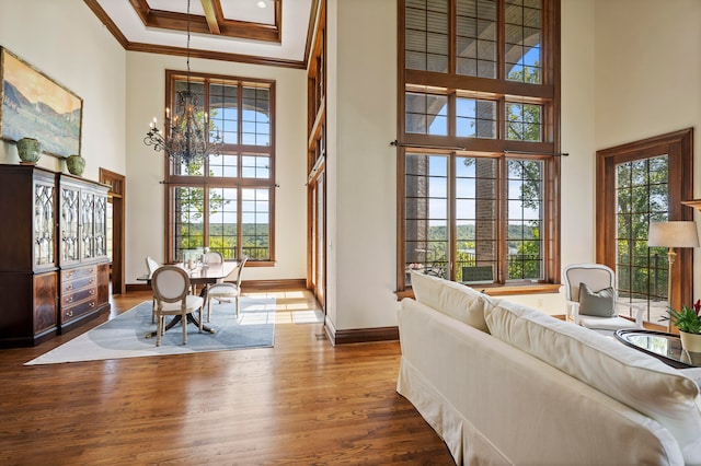
<svg viewBox="0 0 701 466">
<path fill-rule="evenodd" d="M 616 330 L 614 335 L 623 345 L 657 358 L 673 368 L 701 368 L 701 352 L 682 350 L 679 335 L 639 328 Z"/>
</svg>

